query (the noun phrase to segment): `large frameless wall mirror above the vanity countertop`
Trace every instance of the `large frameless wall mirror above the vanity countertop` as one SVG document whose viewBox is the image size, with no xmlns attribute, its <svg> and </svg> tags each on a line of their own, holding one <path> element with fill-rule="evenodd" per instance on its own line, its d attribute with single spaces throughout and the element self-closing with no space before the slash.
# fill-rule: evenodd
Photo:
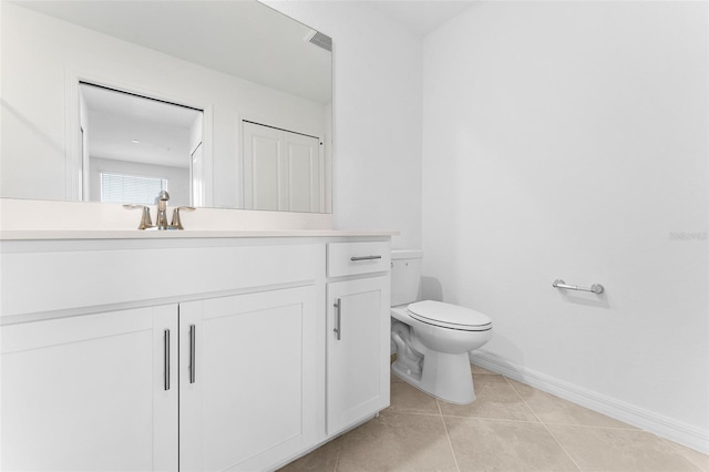
<svg viewBox="0 0 709 472">
<path fill-rule="evenodd" d="M 251 0 L 0 6 L 0 196 L 331 212 L 327 35 Z"/>
</svg>

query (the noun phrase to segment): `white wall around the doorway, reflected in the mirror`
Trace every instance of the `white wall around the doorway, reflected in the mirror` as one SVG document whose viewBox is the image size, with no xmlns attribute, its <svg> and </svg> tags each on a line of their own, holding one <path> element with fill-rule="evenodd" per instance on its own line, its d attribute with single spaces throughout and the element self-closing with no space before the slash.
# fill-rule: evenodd
<svg viewBox="0 0 709 472">
<path fill-rule="evenodd" d="M 66 188 L 70 78 L 207 109 L 214 199 L 240 205 L 240 120 L 307 134 L 326 130 L 328 105 L 215 72 L 147 48 L 2 2 L 0 196 L 71 199 Z M 78 106 L 78 104 L 76 104 Z M 327 136 L 325 136 L 327 140 Z"/>
</svg>

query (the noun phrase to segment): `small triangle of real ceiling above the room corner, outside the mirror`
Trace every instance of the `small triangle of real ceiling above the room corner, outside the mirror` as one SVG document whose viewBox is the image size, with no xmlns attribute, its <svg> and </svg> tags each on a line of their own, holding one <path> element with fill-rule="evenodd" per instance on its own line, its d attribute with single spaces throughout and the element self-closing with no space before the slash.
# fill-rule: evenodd
<svg viewBox="0 0 709 472">
<path fill-rule="evenodd" d="M 422 38 L 467 10 L 475 0 L 369 0 L 368 3 Z"/>
</svg>

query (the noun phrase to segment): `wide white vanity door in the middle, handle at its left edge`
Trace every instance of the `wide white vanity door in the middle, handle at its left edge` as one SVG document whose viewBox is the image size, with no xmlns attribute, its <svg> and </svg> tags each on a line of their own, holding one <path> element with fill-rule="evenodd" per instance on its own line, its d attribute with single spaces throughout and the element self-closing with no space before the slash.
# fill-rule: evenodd
<svg viewBox="0 0 709 472">
<path fill-rule="evenodd" d="M 315 293 L 181 304 L 181 470 L 264 470 L 315 444 Z"/>
</svg>

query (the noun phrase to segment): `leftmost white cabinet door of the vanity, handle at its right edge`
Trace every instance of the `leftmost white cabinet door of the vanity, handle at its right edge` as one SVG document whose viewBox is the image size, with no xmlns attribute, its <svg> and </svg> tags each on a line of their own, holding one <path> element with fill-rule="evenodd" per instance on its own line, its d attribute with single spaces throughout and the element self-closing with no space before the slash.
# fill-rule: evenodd
<svg viewBox="0 0 709 472">
<path fill-rule="evenodd" d="M 177 469 L 176 305 L 0 331 L 2 470 Z"/>
</svg>

